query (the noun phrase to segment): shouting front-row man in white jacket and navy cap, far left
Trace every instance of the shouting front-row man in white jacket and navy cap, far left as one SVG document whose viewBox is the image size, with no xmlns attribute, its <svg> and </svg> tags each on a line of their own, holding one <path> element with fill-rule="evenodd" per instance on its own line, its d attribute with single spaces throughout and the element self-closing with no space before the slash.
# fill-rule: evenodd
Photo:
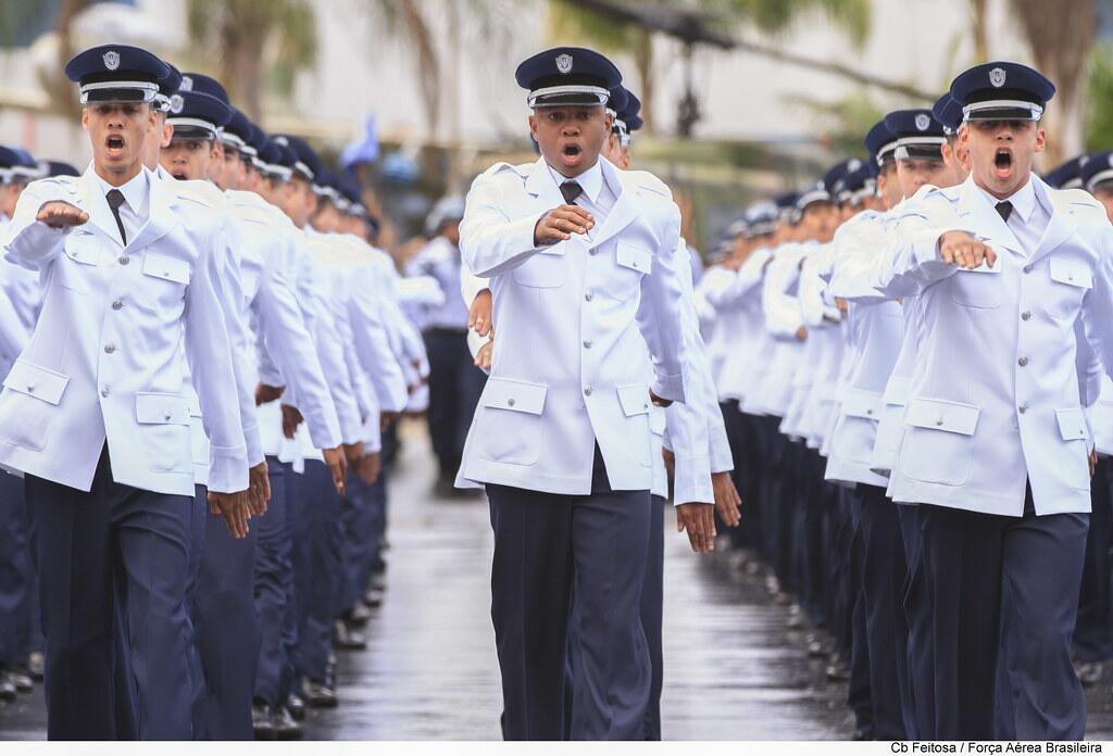
<svg viewBox="0 0 1113 756">
<path fill-rule="evenodd" d="M 81 83 L 93 162 L 80 179 L 32 183 L 20 199 L 6 257 L 42 270 L 47 290 L 0 395 L 0 464 L 26 474 L 40 524 L 48 730 L 115 735 L 101 686 L 114 676 L 118 614 L 138 735 L 189 738 L 186 356 L 213 440 L 214 503 L 237 506 L 247 488 L 216 282 L 224 229 L 140 162 L 169 67 L 106 46 L 77 56 L 67 74 Z"/>
</svg>

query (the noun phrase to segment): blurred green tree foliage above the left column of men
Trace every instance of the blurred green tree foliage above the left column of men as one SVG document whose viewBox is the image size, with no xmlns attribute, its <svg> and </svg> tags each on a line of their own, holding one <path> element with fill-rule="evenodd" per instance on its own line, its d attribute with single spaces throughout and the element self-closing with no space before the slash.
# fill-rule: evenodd
<svg viewBox="0 0 1113 756">
<path fill-rule="evenodd" d="M 265 84 L 288 92 L 294 76 L 316 60 L 309 0 L 188 0 L 186 8 L 201 60 L 219 61 L 215 76 L 253 120 L 262 116 Z"/>
</svg>

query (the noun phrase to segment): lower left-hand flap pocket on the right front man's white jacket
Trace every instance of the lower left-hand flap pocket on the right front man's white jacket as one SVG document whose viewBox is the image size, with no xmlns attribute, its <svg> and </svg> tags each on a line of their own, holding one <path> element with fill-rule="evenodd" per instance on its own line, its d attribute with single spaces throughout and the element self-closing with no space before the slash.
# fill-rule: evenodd
<svg viewBox="0 0 1113 756">
<path fill-rule="evenodd" d="M 909 478 L 962 486 L 971 477 L 979 407 L 943 399 L 909 399 L 900 470 Z"/>
</svg>

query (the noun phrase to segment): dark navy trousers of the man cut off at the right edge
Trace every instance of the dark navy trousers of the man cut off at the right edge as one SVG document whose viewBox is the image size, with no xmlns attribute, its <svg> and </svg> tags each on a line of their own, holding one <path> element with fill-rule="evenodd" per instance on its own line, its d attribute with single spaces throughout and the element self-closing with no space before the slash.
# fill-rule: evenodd
<svg viewBox="0 0 1113 756">
<path fill-rule="evenodd" d="M 1080 662 L 1113 658 L 1110 548 L 1113 548 L 1113 460 L 1101 455 L 1091 481 L 1090 533 L 1078 590 L 1078 621 L 1074 628 L 1074 654 Z"/>
</svg>

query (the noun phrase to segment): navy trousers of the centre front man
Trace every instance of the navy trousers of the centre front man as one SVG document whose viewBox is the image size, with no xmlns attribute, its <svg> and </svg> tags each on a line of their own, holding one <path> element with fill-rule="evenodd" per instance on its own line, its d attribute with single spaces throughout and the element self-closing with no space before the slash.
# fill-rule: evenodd
<svg viewBox="0 0 1113 756">
<path fill-rule="evenodd" d="M 569 733 L 575 739 L 641 739 L 652 686 L 641 623 L 649 491 L 612 491 L 597 449 L 590 495 L 489 484 L 487 496 L 494 526 L 491 617 L 502 670 L 504 737 L 564 736 L 574 595 L 579 665 Z"/>
</svg>

